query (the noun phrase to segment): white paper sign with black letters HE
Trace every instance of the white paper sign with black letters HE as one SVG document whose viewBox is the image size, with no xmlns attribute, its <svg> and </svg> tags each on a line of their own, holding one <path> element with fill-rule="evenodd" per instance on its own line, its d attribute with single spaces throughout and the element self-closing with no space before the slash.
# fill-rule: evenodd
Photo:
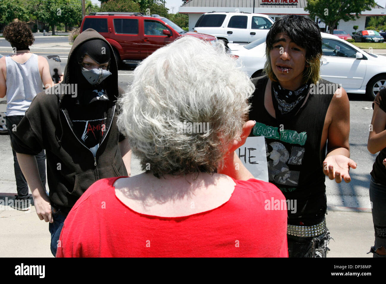
<svg viewBox="0 0 386 284">
<path fill-rule="evenodd" d="M 236 150 L 243 165 L 255 179 L 268 182 L 268 165 L 264 136 L 248 137 Z"/>
</svg>

